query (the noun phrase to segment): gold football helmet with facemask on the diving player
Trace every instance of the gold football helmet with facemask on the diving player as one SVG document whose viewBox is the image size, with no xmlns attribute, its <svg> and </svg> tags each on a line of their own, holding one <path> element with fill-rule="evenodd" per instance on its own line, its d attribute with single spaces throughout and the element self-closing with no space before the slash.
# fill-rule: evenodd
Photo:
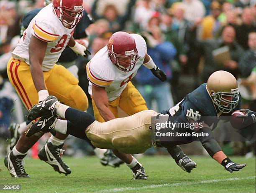
<svg viewBox="0 0 256 193">
<path fill-rule="evenodd" d="M 236 78 L 229 72 L 220 70 L 212 73 L 206 85 L 214 104 L 223 113 L 230 113 L 239 101 Z"/>
</svg>

